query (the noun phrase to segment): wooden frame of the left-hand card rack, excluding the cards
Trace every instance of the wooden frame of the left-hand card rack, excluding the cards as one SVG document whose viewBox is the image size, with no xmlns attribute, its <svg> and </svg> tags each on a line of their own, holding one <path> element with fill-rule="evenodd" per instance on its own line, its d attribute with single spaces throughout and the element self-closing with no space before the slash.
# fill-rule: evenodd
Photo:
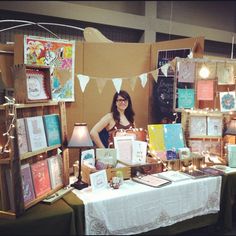
<svg viewBox="0 0 236 236">
<path fill-rule="evenodd" d="M 0 136 L 0 218 L 16 218 L 22 215 L 29 207 L 69 184 L 69 154 L 68 149 L 64 145 L 66 144 L 67 136 L 66 109 L 64 102 L 48 101 L 42 103 L 0 105 L 0 113 L 0 133 L 3 134 Z M 18 118 L 43 116 L 54 113 L 59 114 L 60 117 L 61 144 L 20 155 L 16 120 Z M 23 199 L 21 165 L 25 163 L 32 164 L 56 155 L 58 150 L 61 150 L 63 160 L 63 185 L 36 197 L 26 205 Z M 8 186 L 9 181 L 6 179 L 6 170 L 10 170 L 11 173 L 11 186 Z M 11 191 L 9 191 L 9 187 Z M 12 194 L 10 195 L 9 192 Z M 14 209 L 11 207 L 11 201 L 14 203 Z"/>
</svg>

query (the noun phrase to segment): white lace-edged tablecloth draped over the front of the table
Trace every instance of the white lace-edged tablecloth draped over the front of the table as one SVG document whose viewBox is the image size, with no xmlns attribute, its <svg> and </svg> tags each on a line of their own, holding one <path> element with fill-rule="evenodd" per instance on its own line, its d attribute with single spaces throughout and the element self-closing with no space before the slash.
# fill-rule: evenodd
<svg viewBox="0 0 236 236">
<path fill-rule="evenodd" d="M 220 210 L 221 176 L 153 188 L 127 180 L 119 189 L 73 192 L 85 205 L 87 235 L 137 234 Z"/>
</svg>

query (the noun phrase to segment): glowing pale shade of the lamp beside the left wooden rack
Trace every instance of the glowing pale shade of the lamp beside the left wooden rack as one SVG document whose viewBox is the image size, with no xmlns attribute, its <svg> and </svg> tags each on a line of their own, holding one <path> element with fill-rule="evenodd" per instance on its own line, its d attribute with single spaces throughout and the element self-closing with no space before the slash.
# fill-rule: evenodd
<svg viewBox="0 0 236 236">
<path fill-rule="evenodd" d="M 93 142 L 90 138 L 86 123 L 75 123 L 68 147 L 92 147 Z"/>
</svg>

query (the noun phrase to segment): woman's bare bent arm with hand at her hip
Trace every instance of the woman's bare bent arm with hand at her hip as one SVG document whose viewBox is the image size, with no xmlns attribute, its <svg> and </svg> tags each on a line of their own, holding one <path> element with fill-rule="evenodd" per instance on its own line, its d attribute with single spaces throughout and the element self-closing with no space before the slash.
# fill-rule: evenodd
<svg viewBox="0 0 236 236">
<path fill-rule="evenodd" d="M 102 131 L 104 128 L 109 127 L 112 120 L 113 118 L 111 113 L 108 113 L 103 116 L 91 129 L 90 136 L 98 148 L 105 148 L 99 137 L 99 132 Z"/>
</svg>

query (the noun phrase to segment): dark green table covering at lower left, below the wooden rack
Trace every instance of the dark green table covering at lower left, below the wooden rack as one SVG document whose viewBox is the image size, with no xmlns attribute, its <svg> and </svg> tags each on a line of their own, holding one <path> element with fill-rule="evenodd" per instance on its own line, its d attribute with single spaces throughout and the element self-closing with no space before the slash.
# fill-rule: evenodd
<svg viewBox="0 0 236 236">
<path fill-rule="evenodd" d="M 62 199 L 38 203 L 17 219 L 0 219 L 0 235 L 75 235 L 73 209 Z"/>
</svg>

